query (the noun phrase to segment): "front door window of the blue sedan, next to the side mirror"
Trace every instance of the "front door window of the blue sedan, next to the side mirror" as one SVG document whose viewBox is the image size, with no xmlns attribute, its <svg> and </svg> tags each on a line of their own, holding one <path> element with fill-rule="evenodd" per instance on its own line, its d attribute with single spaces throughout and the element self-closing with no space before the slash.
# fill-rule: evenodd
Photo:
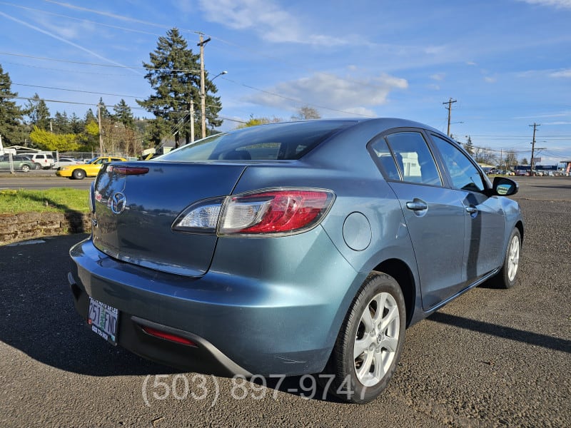
<svg viewBox="0 0 571 428">
<path fill-rule="evenodd" d="M 471 192 L 482 192 L 485 189 L 480 171 L 464 153 L 443 138 L 435 135 L 430 135 L 430 138 L 442 155 L 454 188 Z"/>
</svg>

